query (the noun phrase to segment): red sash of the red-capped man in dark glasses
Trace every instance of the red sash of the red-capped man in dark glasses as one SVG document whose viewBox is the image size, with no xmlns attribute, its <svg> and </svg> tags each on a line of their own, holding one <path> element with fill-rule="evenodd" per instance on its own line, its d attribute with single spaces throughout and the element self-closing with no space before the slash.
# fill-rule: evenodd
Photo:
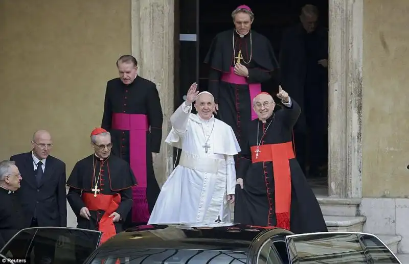
<svg viewBox="0 0 409 264">
<path fill-rule="evenodd" d="M 115 236 L 117 231 L 112 222 L 112 218 L 109 218 L 109 215 L 118 209 L 118 206 L 121 203 L 121 195 L 98 194 L 97 197 L 94 197 L 94 194 L 82 193 L 81 198 L 88 210 L 105 211 L 98 223 L 98 230 L 102 232 L 101 244 L 106 242 L 110 237 Z"/>
</svg>

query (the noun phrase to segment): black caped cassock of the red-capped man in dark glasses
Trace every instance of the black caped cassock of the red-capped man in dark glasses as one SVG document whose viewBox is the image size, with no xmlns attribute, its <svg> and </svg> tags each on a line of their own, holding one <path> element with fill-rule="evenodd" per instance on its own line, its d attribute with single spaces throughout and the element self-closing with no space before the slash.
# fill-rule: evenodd
<svg viewBox="0 0 409 264">
<path fill-rule="evenodd" d="M 70 187 L 67 200 L 75 215 L 77 215 L 78 228 L 98 230 L 99 221 L 107 211 L 103 207 L 110 205 L 102 201 L 102 199 L 119 194 L 121 200 L 115 211 L 121 215 L 123 220 L 115 223 L 115 228 L 117 233 L 122 231 L 126 215 L 132 207 L 131 187 L 137 185 L 137 181 L 126 161 L 112 155 L 101 161 L 94 154 L 90 155 L 75 164 L 67 180 L 67 185 Z M 93 189 L 95 189 L 96 185 L 99 191 L 96 193 L 97 197 L 94 197 L 95 191 Z M 97 205 L 94 204 L 94 200 L 97 201 Z M 117 201 L 114 202 L 117 203 Z M 99 209 L 94 210 L 92 207 L 95 206 L 98 206 Z M 82 207 L 89 209 L 90 220 L 81 217 L 79 214 Z"/>
</svg>

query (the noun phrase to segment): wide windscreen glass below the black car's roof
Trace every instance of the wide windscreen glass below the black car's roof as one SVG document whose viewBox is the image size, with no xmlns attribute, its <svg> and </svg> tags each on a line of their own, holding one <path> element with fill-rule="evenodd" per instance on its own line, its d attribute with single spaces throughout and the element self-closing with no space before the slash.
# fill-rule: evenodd
<svg viewBox="0 0 409 264">
<path fill-rule="evenodd" d="M 247 252 L 197 249 L 112 249 L 97 253 L 92 264 L 242 264 Z"/>
</svg>

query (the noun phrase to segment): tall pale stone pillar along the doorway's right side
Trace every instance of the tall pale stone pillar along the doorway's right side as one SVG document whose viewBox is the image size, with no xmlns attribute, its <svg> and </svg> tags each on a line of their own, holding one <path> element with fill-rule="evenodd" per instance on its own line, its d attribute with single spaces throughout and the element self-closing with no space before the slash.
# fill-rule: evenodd
<svg viewBox="0 0 409 264">
<path fill-rule="evenodd" d="M 361 198 L 363 0 L 329 1 L 328 193 Z"/>
</svg>

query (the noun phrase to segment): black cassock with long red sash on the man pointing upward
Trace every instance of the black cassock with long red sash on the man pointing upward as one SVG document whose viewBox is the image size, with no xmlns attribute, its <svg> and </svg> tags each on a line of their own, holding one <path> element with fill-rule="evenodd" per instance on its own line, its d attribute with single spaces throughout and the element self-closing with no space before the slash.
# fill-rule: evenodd
<svg viewBox="0 0 409 264">
<path fill-rule="evenodd" d="M 294 233 L 324 232 L 320 205 L 294 156 L 292 127 L 301 108 L 291 101 L 290 108 L 283 106 L 266 123 L 256 119 L 247 128 L 237 171 L 244 188 L 236 185 L 234 222 L 278 226 Z"/>
</svg>

